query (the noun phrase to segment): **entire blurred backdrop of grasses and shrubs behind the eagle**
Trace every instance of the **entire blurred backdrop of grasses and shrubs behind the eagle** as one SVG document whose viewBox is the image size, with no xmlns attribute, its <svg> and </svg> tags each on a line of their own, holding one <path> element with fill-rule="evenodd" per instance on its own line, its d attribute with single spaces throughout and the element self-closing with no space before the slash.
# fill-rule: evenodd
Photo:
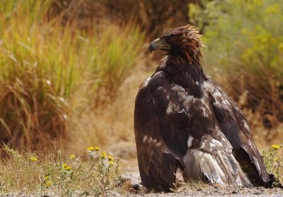
<svg viewBox="0 0 283 197">
<path fill-rule="evenodd" d="M 192 23 L 204 70 L 247 114 L 257 144 L 282 143 L 282 21 L 275 0 L 2 0 L 0 141 L 72 152 L 134 143 L 134 98 L 161 57 L 147 43 Z"/>
</svg>

